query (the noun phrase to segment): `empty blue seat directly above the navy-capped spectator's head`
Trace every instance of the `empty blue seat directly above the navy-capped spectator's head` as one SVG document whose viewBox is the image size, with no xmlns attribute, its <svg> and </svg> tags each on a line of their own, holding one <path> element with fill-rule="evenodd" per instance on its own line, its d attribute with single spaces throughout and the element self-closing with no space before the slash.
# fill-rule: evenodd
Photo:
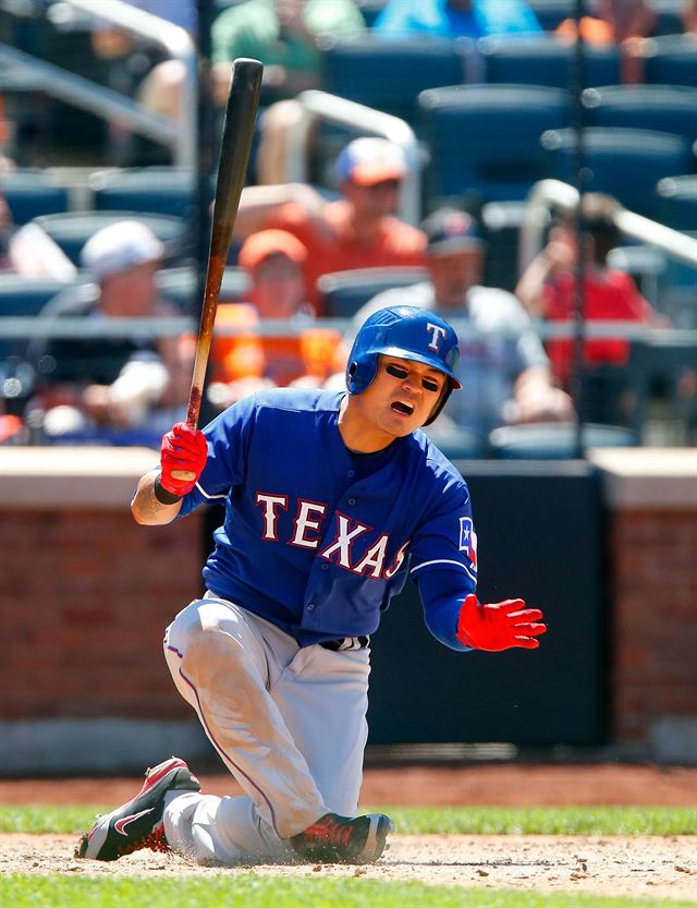
<svg viewBox="0 0 697 908">
<path fill-rule="evenodd" d="M 570 98 L 538 85 L 463 85 L 419 95 L 428 196 L 521 201 L 545 177 L 540 135 L 568 125 Z"/>
</svg>

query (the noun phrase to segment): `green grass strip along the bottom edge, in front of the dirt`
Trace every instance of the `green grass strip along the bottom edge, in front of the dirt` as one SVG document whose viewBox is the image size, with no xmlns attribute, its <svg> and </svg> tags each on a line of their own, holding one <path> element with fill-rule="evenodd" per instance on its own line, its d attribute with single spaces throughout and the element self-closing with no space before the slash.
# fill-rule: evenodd
<svg viewBox="0 0 697 908">
<path fill-rule="evenodd" d="M 375 880 L 259 877 L 234 873 L 215 880 L 0 877 L 8 908 L 695 908 L 669 899 L 604 898 L 485 892 Z"/>
</svg>

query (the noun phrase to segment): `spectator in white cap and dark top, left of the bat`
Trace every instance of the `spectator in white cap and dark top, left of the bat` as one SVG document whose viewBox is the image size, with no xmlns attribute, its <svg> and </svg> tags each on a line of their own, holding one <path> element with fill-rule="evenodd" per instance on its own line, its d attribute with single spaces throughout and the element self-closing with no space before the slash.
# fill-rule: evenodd
<svg viewBox="0 0 697 908">
<path fill-rule="evenodd" d="M 72 286 L 41 311 L 51 319 L 162 318 L 176 310 L 161 300 L 155 282 L 163 246 L 139 221 L 98 230 L 85 243 L 82 264 L 95 283 Z M 188 339 L 130 337 L 46 338 L 32 344 L 36 399 L 49 438 L 99 437 L 114 429 L 152 433 L 181 419 L 191 385 Z"/>
</svg>

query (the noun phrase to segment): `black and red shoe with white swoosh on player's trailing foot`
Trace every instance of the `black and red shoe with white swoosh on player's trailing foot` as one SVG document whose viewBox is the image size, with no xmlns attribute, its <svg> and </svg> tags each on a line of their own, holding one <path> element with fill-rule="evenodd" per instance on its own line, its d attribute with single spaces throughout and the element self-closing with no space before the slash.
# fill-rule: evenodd
<svg viewBox="0 0 697 908">
<path fill-rule="evenodd" d="M 140 848 L 169 851 L 162 822 L 169 791 L 200 791 L 198 779 L 179 756 L 148 770 L 143 788 L 127 804 L 98 816 L 80 839 L 75 857 L 115 861 Z"/>
</svg>

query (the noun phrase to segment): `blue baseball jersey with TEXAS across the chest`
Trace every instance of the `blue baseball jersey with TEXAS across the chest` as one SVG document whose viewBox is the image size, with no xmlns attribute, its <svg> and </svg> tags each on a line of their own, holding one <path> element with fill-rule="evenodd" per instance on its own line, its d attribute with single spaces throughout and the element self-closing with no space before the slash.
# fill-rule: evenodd
<svg viewBox="0 0 697 908">
<path fill-rule="evenodd" d="M 457 470 L 420 431 L 375 455 L 350 451 L 339 432 L 344 394 L 274 388 L 225 410 L 204 429 L 208 460 L 179 514 L 224 503 L 208 589 L 301 645 L 372 633 L 407 576 L 442 570 L 452 588 L 455 571 L 462 596 L 476 589 Z M 455 624 L 437 635 L 466 649 Z"/>
</svg>

